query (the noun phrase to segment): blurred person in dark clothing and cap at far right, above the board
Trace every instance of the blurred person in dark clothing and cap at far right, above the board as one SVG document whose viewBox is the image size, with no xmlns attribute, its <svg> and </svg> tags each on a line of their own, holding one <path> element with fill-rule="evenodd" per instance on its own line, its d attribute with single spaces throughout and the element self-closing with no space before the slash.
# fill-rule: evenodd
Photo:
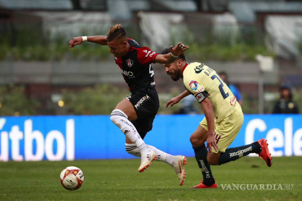
<svg viewBox="0 0 302 201">
<path fill-rule="evenodd" d="M 273 114 L 298 114 L 297 103 L 292 100 L 291 87 L 283 85 L 280 87 L 280 99 L 275 103 Z"/>
</svg>

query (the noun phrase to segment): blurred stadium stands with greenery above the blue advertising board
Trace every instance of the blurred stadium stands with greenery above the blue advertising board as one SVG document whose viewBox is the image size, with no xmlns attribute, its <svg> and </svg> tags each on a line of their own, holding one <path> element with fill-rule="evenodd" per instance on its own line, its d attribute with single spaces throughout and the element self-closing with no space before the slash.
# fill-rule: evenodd
<svg viewBox="0 0 302 201">
<path fill-rule="evenodd" d="M 1 115 L 109 114 L 129 93 L 108 47 L 85 43 L 69 50 L 68 42 L 106 35 L 115 23 L 153 51 L 189 45 L 189 62 L 228 73 L 245 114 L 271 113 L 283 84 L 302 108 L 300 1 L 0 0 L 0 9 Z M 261 70 L 258 54 L 271 56 L 273 66 Z M 174 113 L 180 104 L 163 105 L 183 85 L 161 65 L 153 67 L 159 113 Z"/>
</svg>

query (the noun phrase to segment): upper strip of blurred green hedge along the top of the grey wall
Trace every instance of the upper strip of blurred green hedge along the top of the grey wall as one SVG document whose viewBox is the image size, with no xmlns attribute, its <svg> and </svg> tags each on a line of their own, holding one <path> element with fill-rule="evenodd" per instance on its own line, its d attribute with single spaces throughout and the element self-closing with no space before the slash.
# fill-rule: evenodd
<svg viewBox="0 0 302 201">
<path fill-rule="evenodd" d="M 66 43 L 66 42 L 65 42 Z M 0 60 L 106 60 L 111 56 L 107 46 L 82 43 L 69 50 L 69 45 L 66 43 L 51 44 L 51 45 L 33 45 L 27 47 L 11 47 L 7 44 L 0 44 Z M 201 44 L 187 44 L 190 48 L 186 55 L 193 59 L 202 60 L 255 60 L 255 55 L 261 54 L 264 56 L 274 56 L 272 52 L 266 50 L 263 46 L 250 46 L 245 44 L 236 44 L 230 47 L 220 45 L 203 46 Z"/>
</svg>

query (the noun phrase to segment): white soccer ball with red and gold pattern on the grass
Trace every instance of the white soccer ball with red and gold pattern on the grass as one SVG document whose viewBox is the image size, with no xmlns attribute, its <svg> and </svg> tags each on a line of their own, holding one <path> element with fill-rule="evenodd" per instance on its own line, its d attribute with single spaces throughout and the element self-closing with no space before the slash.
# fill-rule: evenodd
<svg viewBox="0 0 302 201">
<path fill-rule="evenodd" d="M 67 190 L 77 190 L 84 182 L 84 174 L 80 168 L 69 166 L 60 174 L 62 186 Z"/>
</svg>

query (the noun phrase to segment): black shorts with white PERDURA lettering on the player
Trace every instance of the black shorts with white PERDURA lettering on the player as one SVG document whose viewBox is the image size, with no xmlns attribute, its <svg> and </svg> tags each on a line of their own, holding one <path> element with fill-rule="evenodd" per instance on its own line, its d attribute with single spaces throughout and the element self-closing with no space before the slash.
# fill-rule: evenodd
<svg viewBox="0 0 302 201">
<path fill-rule="evenodd" d="M 135 109 L 137 119 L 131 122 L 144 139 L 147 132 L 152 129 L 153 120 L 159 109 L 157 91 L 155 88 L 141 89 L 125 99 L 128 99 Z"/>
</svg>

